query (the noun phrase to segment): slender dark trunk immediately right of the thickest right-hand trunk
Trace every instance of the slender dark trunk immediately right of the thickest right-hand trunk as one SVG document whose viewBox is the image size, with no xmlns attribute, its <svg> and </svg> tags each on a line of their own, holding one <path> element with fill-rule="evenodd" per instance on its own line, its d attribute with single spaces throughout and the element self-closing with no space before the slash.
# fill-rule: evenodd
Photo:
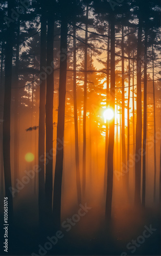
<svg viewBox="0 0 161 256">
<path fill-rule="evenodd" d="M 147 140 L 147 39 L 148 31 L 145 26 L 145 46 L 144 46 L 144 126 L 143 126 L 143 188 L 142 205 L 145 207 L 146 193 L 146 140 Z"/>
</svg>

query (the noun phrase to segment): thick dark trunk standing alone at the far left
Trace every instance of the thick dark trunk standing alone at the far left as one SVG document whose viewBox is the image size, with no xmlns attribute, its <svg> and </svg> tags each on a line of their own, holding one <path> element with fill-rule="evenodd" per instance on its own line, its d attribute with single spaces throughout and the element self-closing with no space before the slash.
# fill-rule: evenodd
<svg viewBox="0 0 161 256">
<path fill-rule="evenodd" d="M 8 18 L 11 19 L 14 1 L 8 0 Z M 10 161 L 10 123 L 11 123 L 11 85 L 12 85 L 12 53 L 14 28 L 11 22 L 6 32 L 6 52 L 5 52 L 5 97 L 4 97 L 4 122 L 3 122 L 3 156 L 4 156 L 4 176 L 5 176 L 5 196 L 8 198 L 8 224 L 13 219 L 13 198 L 11 182 L 11 161 Z"/>
</svg>

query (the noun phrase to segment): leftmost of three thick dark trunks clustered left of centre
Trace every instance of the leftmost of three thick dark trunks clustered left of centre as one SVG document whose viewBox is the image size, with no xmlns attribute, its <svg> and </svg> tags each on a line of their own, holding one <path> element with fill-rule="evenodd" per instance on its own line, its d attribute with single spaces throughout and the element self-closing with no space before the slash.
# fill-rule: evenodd
<svg viewBox="0 0 161 256">
<path fill-rule="evenodd" d="M 39 100 L 39 132 L 38 132 L 38 210 L 39 226 L 43 225 L 44 213 L 44 143 L 45 143 L 45 78 L 43 77 L 46 67 L 46 36 L 47 20 L 45 15 L 44 3 L 41 2 L 41 35 L 40 35 L 40 100 Z"/>
</svg>

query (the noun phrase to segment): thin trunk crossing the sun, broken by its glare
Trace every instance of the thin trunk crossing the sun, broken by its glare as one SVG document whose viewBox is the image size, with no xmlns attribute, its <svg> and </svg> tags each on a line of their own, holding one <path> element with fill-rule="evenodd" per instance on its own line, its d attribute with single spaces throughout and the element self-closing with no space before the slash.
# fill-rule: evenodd
<svg viewBox="0 0 161 256">
<path fill-rule="evenodd" d="M 109 45 L 110 45 L 110 25 L 108 24 L 108 41 L 107 41 L 107 75 L 106 75 L 106 109 L 109 107 Z M 104 196 L 107 190 L 107 158 L 108 158 L 108 125 L 106 120 L 106 138 L 105 138 L 105 170 L 104 170 Z"/>
</svg>

